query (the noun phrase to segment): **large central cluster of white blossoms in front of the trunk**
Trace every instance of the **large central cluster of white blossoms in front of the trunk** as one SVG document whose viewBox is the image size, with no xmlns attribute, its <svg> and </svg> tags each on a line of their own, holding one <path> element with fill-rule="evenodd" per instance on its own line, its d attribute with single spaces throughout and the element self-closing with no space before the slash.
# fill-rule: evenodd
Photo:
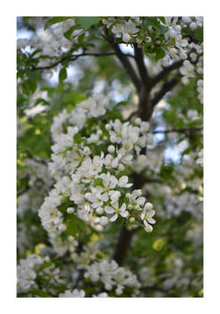
<svg viewBox="0 0 220 314">
<path fill-rule="evenodd" d="M 132 125 L 118 118 L 105 124 L 107 107 L 109 100 L 98 94 L 54 119 L 49 170 L 55 186 L 38 212 L 54 243 L 66 231 L 66 216 L 76 215 L 97 230 L 119 217 L 153 230 L 153 205 L 140 189 L 131 191 L 133 184 L 126 175 L 146 145 L 152 144 L 149 124 L 136 119 Z M 96 124 L 91 125 L 93 118 Z M 63 204 L 68 204 L 64 212 Z"/>
</svg>

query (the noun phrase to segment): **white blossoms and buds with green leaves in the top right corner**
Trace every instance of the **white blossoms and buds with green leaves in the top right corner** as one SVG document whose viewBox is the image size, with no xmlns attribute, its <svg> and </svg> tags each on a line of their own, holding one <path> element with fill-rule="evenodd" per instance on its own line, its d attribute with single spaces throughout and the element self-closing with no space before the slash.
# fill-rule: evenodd
<svg viewBox="0 0 220 314">
<path fill-rule="evenodd" d="M 148 44 L 149 48 L 160 47 L 164 50 L 165 57 L 157 61 L 157 65 L 167 66 L 179 60 L 184 60 L 180 68 L 182 83 L 187 85 L 190 78 L 198 78 L 199 100 L 202 103 L 202 79 L 203 74 L 203 44 L 187 37 L 186 31 L 196 31 L 202 28 L 201 17 L 190 16 L 166 16 L 165 21 L 157 18 L 160 27 L 164 27 L 164 39 L 157 39 L 154 28 L 143 27 L 143 18 L 131 17 L 128 21 L 123 18 L 109 17 L 102 22 L 114 33 L 115 38 L 122 38 L 123 42 L 137 42 Z"/>
</svg>

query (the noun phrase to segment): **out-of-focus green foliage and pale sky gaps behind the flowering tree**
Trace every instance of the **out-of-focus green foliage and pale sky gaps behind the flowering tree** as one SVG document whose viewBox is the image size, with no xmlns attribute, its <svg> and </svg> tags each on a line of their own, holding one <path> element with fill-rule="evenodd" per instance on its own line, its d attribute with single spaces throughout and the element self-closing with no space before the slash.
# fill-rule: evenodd
<svg viewBox="0 0 220 314">
<path fill-rule="evenodd" d="M 18 38 L 34 36 L 36 30 L 28 21 L 28 18 L 18 18 Z M 80 45 L 89 51 L 112 51 L 100 37 L 98 25 L 89 36 L 86 42 L 81 39 Z M 79 45 L 75 45 L 72 51 L 78 48 Z M 130 45 L 122 45 L 122 48 L 131 53 Z M 27 160 L 47 169 L 53 118 L 63 109 L 71 111 L 91 92 L 107 92 L 113 104 L 123 101 L 123 105 L 117 109 L 113 107 L 111 111 L 119 110 L 125 118 L 137 108 L 134 87 L 116 57 L 87 56 L 72 62 L 64 61 L 48 71 L 32 71 L 31 66 L 37 64 L 35 56 L 36 51 L 31 49 L 18 51 L 18 207 L 23 204 L 27 193 L 31 196 L 27 197 L 24 213 L 18 212 L 18 260 L 27 252 L 34 252 L 39 243 L 49 245 L 46 231 L 39 222 L 38 208 L 53 186 L 53 179 L 48 176 L 47 182 L 42 181 L 38 167 L 33 165 L 36 173 L 32 173 Z M 196 110 L 198 118 L 189 118 L 189 109 Z M 180 196 L 187 194 L 196 196 L 198 206 L 201 206 L 203 174 L 196 160 L 203 139 L 202 132 L 194 131 L 193 127 L 202 125 L 202 113 L 196 82 L 191 79 L 189 85 L 179 84 L 166 94 L 150 122 L 150 132 L 155 136 L 154 144 L 148 148 L 149 167 L 144 176 L 148 200 L 156 208 L 157 223 L 148 235 L 141 230 L 135 233 L 124 264 L 138 275 L 143 283 L 143 295 L 147 297 L 202 296 L 202 214 L 200 209 L 197 211 L 194 198 L 194 205 L 190 204 L 190 198 L 179 202 Z M 157 133 L 190 127 L 191 131 Z M 162 191 L 163 187 L 166 191 Z M 171 212 L 167 209 L 170 204 L 173 205 Z M 194 206 L 192 211 L 188 210 L 190 206 Z M 118 220 L 102 235 L 92 231 L 89 240 L 99 240 L 103 254 L 111 255 L 120 227 Z"/>
</svg>

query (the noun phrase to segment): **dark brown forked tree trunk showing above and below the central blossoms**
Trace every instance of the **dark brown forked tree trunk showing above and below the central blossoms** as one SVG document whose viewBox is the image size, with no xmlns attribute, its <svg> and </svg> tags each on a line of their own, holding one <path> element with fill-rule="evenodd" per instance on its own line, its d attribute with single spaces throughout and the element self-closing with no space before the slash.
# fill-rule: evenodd
<svg viewBox="0 0 220 314">
<path fill-rule="evenodd" d="M 137 115 L 143 121 L 149 121 L 157 102 L 161 100 L 165 93 L 170 91 L 179 81 L 178 77 L 173 77 L 170 81 L 164 83 L 161 90 L 157 92 L 156 96 L 153 100 L 151 100 L 150 92 L 152 88 L 159 82 L 161 82 L 167 74 L 170 74 L 173 70 L 179 68 L 182 65 L 182 60 L 174 63 L 173 65 L 169 65 L 165 67 L 159 74 L 157 74 L 154 78 L 150 78 L 148 75 L 148 69 L 144 64 L 144 55 L 142 48 L 139 48 L 136 43 L 133 44 L 134 48 L 134 58 L 138 68 L 138 73 L 136 73 L 133 65 L 131 65 L 130 60 L 127 56 L 123 55 L 121 48 L 118 43 L 114 43 L 114 36 L 109 35 L 108 30 L 105 29 L 104 38 L 110 43 L 112 48 L 114 48 L 114 52 L 116 56 L 119 58 L 123 67 L 129 77 L 131 78 L 131 82 L 134 84 L 136 91 L 139 96 L 139 108 L 137 111 L 131 113 L 130 117 L 127 121 Z M 146 179 L 140 174 L 132 174 L 132 179 L 134 186 L 133 188 L 142 188 Z M 136 230 L 134 230 L 136 231 Z M 117 244 L 114 250 L 113 258 L 120 265 L 123 265 L 125 257 L 127 255 L 128 250 L 131 248 L 131 240 L 134 231 L 128 231 L 123 223 L 121 227 L 121 231 L 119 232 Z"/>
</svg>

